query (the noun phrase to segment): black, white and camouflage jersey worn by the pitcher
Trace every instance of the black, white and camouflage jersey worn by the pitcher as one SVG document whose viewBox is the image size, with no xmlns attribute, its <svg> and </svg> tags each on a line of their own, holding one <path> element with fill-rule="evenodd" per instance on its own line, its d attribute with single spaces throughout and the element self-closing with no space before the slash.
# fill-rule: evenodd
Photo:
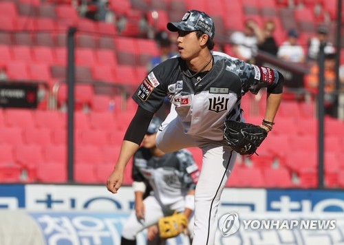
<svg viewBox="0 0 344 245">
<path fill-rule="evenodd" d="M 257 94 L 262 87 L 276 87 L 279 73 L 221 52 L 211 54 L 213 68 L 202 79 L 191 77 L 180 56 L 160 63 L 138 87 L 133 100 L 155 113 L 167 97 L 175 105 L 184 133 L 223 140 L 225 120 L 244 121 L 241 97 L 248 91 Z"/>
</svg>

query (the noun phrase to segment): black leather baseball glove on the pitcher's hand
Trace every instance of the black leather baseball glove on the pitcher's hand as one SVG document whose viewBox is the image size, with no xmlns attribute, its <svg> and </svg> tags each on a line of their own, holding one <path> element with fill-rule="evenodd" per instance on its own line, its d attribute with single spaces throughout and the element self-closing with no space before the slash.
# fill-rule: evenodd
<svg viewBox="0 0 344 245">
<path fill-rule="evenodd" d="M 241 155 L 252 155 L 261 142 L 268 136 L 268 131 L 257 125 L 226 120 L 224 138 L 234 151 Z"/>
</svg>

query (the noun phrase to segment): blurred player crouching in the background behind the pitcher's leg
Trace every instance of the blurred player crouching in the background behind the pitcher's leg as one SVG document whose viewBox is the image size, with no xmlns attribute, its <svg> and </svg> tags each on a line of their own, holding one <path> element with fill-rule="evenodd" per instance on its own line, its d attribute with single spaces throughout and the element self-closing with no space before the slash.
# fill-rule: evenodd
<svg viewBox="0 0 344 245">
<path fill-rule="evenodd" d="M 153 117 L 142 147 L 133 156 L 133 190 L 135 210 L 122 229 L 121 244 L 136 244 L 136 235 L 149 228 L 148 238 L 158 235 L 157 224 L 161 217 L 175 211 L 191 218 L 194 209 L 195 186 L 200 175 L 189 151 L 181 149 L 164 153 L 155 145 L 155 137 L 162 121 Z M 153 194 L 143 198 L 147 184 Z"/>
</svg>

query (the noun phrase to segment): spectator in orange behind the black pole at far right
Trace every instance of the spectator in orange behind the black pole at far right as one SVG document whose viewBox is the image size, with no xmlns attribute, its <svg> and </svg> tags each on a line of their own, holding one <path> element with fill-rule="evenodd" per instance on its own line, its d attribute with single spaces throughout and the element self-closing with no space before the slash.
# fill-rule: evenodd
<svg viewBox="0 0 344 245">
<path fill-rule="evenodd" d="M 325 112 L 332 116 L 335 115 L 335 103 L 336 96 L 332 94 L 336 88 L 336 54 L 334 52 L 325 53 L 325 62 L 324 62 L 324 92 L 325 92 Z M 344 81 L 341 80 L 341 84 L 344 84 Z M 310 92 L 317 94 L 319 87 L 319 65 L 315 63 L 310 68 L 310 74 L 305 77 L 305 88 Z"/>
</svg>

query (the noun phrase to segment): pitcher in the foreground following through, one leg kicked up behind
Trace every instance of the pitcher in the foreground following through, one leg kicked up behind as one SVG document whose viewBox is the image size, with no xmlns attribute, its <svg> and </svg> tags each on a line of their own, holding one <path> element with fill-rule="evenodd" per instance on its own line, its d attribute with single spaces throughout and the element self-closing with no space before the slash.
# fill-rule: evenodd
<svg viewBox="0 0 344 245">
<path fill-rule="evenodd" d="M 193 244 L 214 244 L 217 208 L 237 157 L 237 151 L 224 140 L 224 122 L 244 122 L 241 99 L 246 92 L 257 94 L 266 87 L 266 111 L 259 126 L 270 131 L 281 103 L 283 76 L 270 67 L 213 52 L 215 26 L 204 12 L 189 10 L 182 21 L 167 23 L 167 29 L 178 32 L 179 55 L 154 67 L 133 94 L 138 110 L 125 134 L 116 167 L 107 179 L 107 189 L 118 192 L 125 165 L 166 96 L 173 105 L 158 131 L 156 145 L 164 152 L 202 149 Z"/>
</svg>

